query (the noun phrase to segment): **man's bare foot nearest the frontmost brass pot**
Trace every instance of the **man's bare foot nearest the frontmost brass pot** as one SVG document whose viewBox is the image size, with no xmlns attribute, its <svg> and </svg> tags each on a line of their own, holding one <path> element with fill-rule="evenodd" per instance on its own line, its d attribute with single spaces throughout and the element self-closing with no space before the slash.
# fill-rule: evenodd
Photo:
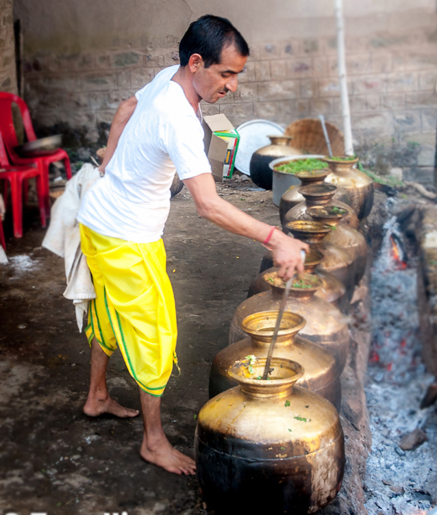
<svg viewBox="0 0 437 515">
<path fill-rule="evenodd" d="M 146 462 L 160 466 L 173 474 L 195 475 L 195 461 L 185 454 L 179 453 L 164 436 L 159 443 L 153 446 L 147 445 L 147 440 L 142 441 L 140 456 Z"/>
</svg>

